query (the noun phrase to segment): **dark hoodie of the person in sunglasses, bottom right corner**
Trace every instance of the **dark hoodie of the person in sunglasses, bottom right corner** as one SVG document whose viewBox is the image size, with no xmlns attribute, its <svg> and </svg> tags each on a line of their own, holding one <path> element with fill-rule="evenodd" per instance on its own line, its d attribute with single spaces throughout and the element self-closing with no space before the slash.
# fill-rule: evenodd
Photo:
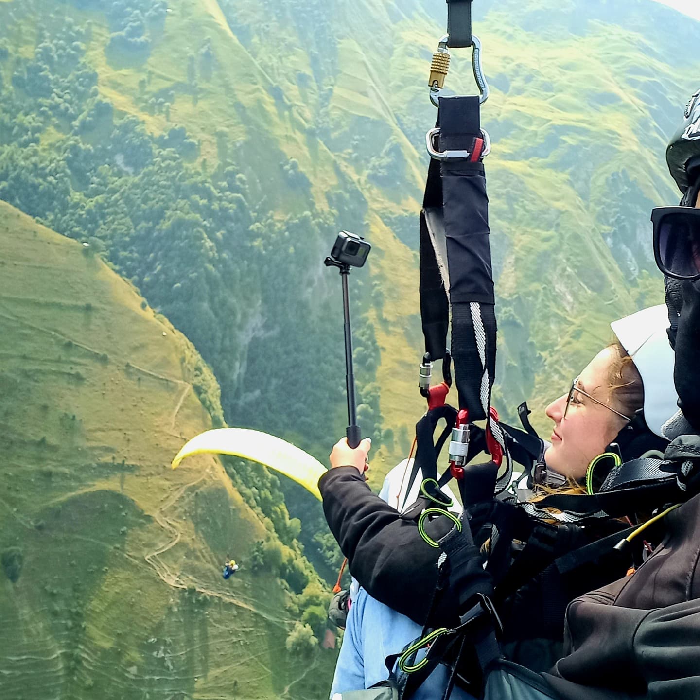
<svg viewBox="0 0 700 700">
<path fill-rule="evenodd" d="M 680 442 L 700 454 L 700 437 Z M 666 519 L 664 542 L 636 573 L 568 606 L 566 655 L 545 674 L 563 698 L 700 698 L 700 495 Z"/>
</svg>

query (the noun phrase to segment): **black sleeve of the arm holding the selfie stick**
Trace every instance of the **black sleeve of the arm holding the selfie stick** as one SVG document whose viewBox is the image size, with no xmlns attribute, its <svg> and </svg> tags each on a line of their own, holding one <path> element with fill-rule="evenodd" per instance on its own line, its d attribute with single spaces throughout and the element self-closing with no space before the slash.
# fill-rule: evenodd
<svg viewBox="0 0 700 700">
<path fill-rule="evenodd" d="M 367 486 L 354 467 L 328 470 L 318 481 L 330 531 L 347 557 L 350 572 L 378 601 L 424 624 L 437 585 L 440 549 L 421 538 L 414 521 L 402 519 Z M 430 521 L 433 539 L 451 521 Z"/>
</svg>

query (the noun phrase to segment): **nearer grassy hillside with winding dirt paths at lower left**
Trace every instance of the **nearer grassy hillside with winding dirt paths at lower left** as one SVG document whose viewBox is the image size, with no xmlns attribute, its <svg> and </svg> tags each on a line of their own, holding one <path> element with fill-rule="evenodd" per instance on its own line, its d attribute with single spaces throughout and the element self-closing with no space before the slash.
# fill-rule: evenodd
<svg viewBox="0 0 700 700">
<path fill-rule="evenodd" d="M 287 652 L 288 587 L 250 564 L 271 523 L 214 458 L 169 468 L 218 403 L 192 344 L 1 202 L 0 260 L 0 695 L 321 696 L 332 652 Z"/>
</svg>

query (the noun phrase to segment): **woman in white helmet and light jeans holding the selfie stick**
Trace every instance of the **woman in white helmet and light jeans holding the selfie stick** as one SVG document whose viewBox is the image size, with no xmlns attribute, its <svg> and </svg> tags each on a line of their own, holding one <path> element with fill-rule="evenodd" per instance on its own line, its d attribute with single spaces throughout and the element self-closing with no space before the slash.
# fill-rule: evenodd
<svg viewBox="0 0 700 700">
<path fill-rule="evenodd" d="M 547 407 L 554 430 L 540 479 L 548 484 L 584 482 L 589 463 L 616 439 L 623 443 L 624 458 L 640 456 L 659 443 L 661 424 L 675 412 L 676 402 L 667 325 L 665 307 L 645 309 L 613 324 L 620 342 L 598 353 L 570 391 Z M 645 427 L 631 429 L 633 423 Z M 420 636 L 437 579 L 436 550 L 363 483 L 360 475 L 369 447 L 363 441 L 351 450 L 344 440 L 338 442 L 330 456 L 334 469 L 319 482 L 331 530 L 349 558 L 351 572 L 368 591 L 360 591 L 355 610 L 351 609 L 334 692 L 368 687 L 386 678 L 384 657 Z M 575 528 L 558 554 L 620 528 L 617 521 L 601 523 L 595 532 Z M 566 580 L 555 573 L 551 567 L 545 569 L 500 604 L 506 653 L 537 670 L 549 668 L 559 657 L 566 603 L 617 577 L 601 566 L 584 566 Z M 434 610 L 431 624 L 447 622 L 435 619 L 435 614 Z M 447 616 L 450 610 L 437 614 Z M 438 672 L 444 675 L 444 669 Z M 431 676 L 421 691 L 427 698 L 442 682 Z"/>
</svg>

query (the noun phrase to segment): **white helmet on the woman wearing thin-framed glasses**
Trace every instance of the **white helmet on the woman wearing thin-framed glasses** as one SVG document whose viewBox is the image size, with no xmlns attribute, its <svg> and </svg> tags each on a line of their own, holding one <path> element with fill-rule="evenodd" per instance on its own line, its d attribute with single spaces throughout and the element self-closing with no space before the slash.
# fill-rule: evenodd
<svg viewBox="0 0 700 700">
<path fill-rule="evenodd" d="M 642 377 L 644 423 L 659 437 L 662 436 L 661 426 L 678 411 L 678 394 L 673 386 L 674 356 L 666 332 L 668 325 L 664 304 L 610 323 Z"/>
</svg>

